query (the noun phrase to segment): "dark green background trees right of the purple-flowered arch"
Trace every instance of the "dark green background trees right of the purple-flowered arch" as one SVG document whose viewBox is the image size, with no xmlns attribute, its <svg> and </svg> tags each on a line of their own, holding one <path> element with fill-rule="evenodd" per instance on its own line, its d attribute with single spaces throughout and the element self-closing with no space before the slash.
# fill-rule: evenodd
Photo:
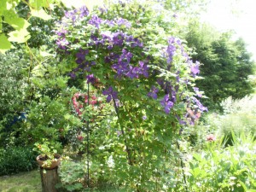
<svg viewBox="0 0 256 192">
<path fill-rule="evenodd" d="M 211 26 L 192 22 L 186 35 L 188 46 L 194 48 L 194 61 L 200 61 L 201 79 L 197 86 L 204 90 L 207 99 L 202 102 L 209 108 L 219 108 L 219 103 L 229 96 L 241 98 L 253 92 L 248 80 L 253 74 L 254 63 L 246 44 L 233 33 L 220 33 Z"/>
</svg>

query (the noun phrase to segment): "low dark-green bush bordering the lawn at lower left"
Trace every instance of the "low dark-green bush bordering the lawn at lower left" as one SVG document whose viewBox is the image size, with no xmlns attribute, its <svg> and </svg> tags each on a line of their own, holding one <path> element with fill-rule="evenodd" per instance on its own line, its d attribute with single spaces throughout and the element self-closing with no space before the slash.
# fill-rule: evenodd
<svg viewBox="0 0 256 192">
<path fill-rule="evenodd" d="M 38 166 L 36 156 L 32 148 L 1 148 L 0 176 L 31 171 Z"/>
</svg>

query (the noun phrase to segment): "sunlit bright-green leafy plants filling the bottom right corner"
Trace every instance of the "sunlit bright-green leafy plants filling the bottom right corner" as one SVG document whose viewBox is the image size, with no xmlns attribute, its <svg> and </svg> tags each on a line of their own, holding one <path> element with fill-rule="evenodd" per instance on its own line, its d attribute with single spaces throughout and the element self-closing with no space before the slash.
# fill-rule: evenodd
<svg viewBox="0 0 256 192">
<path fill-rule="evenodd" d="M 255 146 L 251 136 L 233 135 L 234 146 L 212 148 L 196 153 L 189 160 L 189 189 L 192 191 L 253 191 Z M 211 143 L 209 143 L 211 144 Z"/>
</svg>

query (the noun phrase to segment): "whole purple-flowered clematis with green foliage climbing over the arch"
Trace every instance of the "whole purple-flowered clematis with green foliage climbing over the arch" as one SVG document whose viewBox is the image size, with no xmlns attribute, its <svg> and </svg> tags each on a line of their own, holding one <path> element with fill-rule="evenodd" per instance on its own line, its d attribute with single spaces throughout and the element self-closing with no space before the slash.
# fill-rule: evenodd
<svg viewBox="0 0 256 192">
<path fill-rule="evenodd" d="M 175 37 L 176 25 L 148 5 L 115 3 L 91 13 L 85 7 L 67 11 L 55 31 L 59 53 L 73 58 L 70 77 L 100 82 L 97 89 L 113 103 L 116 124 L 103 143 L 112 143 L 116 165 L 109 179 L 115 175 L 115 182 L 137 191 L 170 182 L 160 170 L 166 170 L 174 139 L 182 125 L 207 111 L 201 92 L 193 90 L 200 63 Z"/>
</svg>

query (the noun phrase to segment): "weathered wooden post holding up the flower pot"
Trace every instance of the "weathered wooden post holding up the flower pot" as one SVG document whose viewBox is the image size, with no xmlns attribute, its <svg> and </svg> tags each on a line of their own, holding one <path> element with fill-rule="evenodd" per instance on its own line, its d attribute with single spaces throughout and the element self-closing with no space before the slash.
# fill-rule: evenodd
<svg viewBox="0 0 256 192">
<path fill-rule="evenodd" d="M 57 192 L 55 185 L 60 182 L 58 176 L 58 166 L 54 169 L 44 169 L 40 167 L 41 183 L 43 192 Z"/>
</svg>

